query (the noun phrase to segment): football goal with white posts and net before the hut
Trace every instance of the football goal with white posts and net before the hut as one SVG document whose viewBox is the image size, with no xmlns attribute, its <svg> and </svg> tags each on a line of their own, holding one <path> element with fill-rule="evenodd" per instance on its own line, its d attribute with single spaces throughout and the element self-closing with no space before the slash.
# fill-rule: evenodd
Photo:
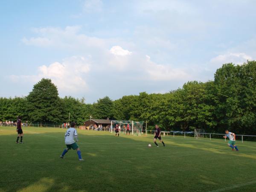
<svg viewBox="0 0 256 192">
<path fill-rule="evenodd" d="M 130 129 L 131 135 L 140 135 L 143 130 L 143 124 L 144 121 L 111 121 L 111 133 L 115 132 L 115 127 L 120 128 L 119 133 L 120 134 L 129 134 L 127 131 L 127 127 Z"/>
</svg>

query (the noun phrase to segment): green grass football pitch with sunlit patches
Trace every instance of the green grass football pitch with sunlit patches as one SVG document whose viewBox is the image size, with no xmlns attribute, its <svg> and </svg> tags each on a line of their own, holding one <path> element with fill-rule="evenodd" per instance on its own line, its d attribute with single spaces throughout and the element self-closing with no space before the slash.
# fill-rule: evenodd
<svg viewBox="0 0 256 192">
<path fill-rule="evenodd" d="M 65 130 L 23 128 L 24 144 L 16 144 L 15 128 L 0 127 L 0 192 L 45 191 L 256 191 L 256 143 L 238 142 L 231 151 L 224 140 L 152 137 L 78 130 L 79 147 L 65 159 Z M 152 147 L 148 148 L 147 144 Z"/>
</svg>

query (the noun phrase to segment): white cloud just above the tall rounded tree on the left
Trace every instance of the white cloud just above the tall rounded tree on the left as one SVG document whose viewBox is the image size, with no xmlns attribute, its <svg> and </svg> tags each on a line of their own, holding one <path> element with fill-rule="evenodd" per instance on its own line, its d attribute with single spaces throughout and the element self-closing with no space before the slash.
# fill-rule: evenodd
<svg viewBox="0 0 256 192">
<path fill-rule="evenodd" d="M 52 82 L 58 87 L 61 95 L 67 95 L 68 92 L 87 89 L 87 83 L 84 75 L 90 71 L 90 61 L 84 57 L 73 56 L 64 59 L 63 62 L 54 62 L 52 64 L 38 67 L 37 75 L 12 75 L 12 81 L 29 81 L 36 83 L 42 78 L 52 79 Z"/>
</svg>

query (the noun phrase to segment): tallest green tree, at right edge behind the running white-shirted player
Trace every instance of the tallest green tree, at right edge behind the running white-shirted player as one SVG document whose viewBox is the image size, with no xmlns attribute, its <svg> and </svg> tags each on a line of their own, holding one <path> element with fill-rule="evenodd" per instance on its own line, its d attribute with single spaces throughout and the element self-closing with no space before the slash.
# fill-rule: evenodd
<svg viewBox="0 0 256 192">
<path fill-rule="evenodd" d="M 256 127 L 256 61 L 224 64 L 215 73 L 215 93 L 219 129 L 253 133 Z"/>
</svg>

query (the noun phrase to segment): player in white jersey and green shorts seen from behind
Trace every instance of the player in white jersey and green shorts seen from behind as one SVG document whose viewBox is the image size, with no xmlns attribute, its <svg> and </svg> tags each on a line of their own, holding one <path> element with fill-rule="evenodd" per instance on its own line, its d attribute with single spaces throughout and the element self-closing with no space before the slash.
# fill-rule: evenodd
<svg viewBox="0 0 256 192">
<path fill-rule="evenodd" d="M 75 122 L 72 122 L 70 124 L 70 128 L 67 129 L 66 134 L 65 134 L 65 144 L 67 145 L 67 148 L 64 149 L 63 153 L 61 154 L 61 158 L 63 159 L 64 155 L 67 153 L 68 150 L 70 150 L 71 148 L 73 148 L 73 150 L 76 150 L 79 161 L 83 161 L 82 157 L 81 157 L 81 151 L 79 149 L 79 146 L 77 145 L 76 142 L 78 142 L 78 135 L 75 129 Z M 75 140 L 76 139 L 76 142 Z"/>
</svg>

